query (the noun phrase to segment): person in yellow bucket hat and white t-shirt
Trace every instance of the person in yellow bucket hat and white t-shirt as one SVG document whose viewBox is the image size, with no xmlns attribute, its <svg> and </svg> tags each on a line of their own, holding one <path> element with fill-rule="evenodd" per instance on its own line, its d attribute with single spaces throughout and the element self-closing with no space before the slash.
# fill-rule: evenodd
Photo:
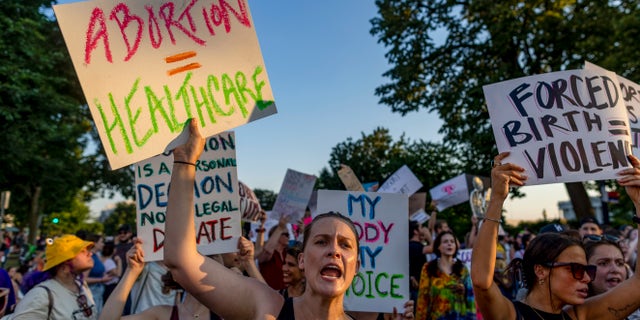
<svg viewBox="0 0 640 320">
<path fill-rule="evenodd" d="M 74 235 L 47 240 L 43 272 L 47 280 L 33 287 L 5 319 L 98 319 L 83 272 L 93 267 L 93 242 Z"/>
</svg>

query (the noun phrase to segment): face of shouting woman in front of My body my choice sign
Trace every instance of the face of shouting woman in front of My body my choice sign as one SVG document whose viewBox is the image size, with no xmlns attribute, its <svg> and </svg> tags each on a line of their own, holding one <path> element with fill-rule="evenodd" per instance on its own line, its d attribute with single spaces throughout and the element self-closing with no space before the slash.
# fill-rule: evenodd
<svg viewBox="0 0 640 320">
<path fill-rule="evenodd" d="M 304 269 L 307 281 L 306 291 L 342 297 L 360 266 L 356 237 L 347 223 L 338 218 L 313 222 L 298 257 L 298 266 Z"/>
</svg>

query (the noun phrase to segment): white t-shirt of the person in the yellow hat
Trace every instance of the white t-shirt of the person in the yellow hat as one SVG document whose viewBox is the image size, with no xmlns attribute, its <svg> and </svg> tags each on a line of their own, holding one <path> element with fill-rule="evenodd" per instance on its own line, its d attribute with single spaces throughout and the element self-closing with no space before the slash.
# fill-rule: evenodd
<svg viewBox="0 0 640 320">
<path fill-rule="evenodd" d="M 20 300 L 20 303 L 16 305 L 15 311 L 7 317 L 2 318 L 2 320 L 47 319 L 49 312 L 49 296 L 47 290 L 41 288 L 41 286 L 46 286 L 51 291 L 53 304 L 51 308 L 51 317 L 49 319 L 98 319 L 98 311 L 95 303 L 93 302 L 91 290 L 89 290 L 86 283 L 83 284 L 82 293 L 78 294 L 62 286 L 58 281 L 49 279 L 29 290 L 29 292 L 24 295 L 24 298 Z M 86 297 L 87 308 L 85 309 L 83 309 L 78 302 L 80 295 L 84 295 Z"/>
</svg>

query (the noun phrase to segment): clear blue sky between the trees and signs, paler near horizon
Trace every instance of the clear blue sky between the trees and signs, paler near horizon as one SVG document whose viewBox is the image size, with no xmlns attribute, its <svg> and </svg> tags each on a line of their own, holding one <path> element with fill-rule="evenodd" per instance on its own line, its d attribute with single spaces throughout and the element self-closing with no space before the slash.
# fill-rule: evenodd
<svg viewBox="0 0 640 320">
<path fill-rule="evenodd" d="M 60 3 L 75 1 L 60 1 Z M 442 121 L 426 110 L 400 116 L 378 103 L 376 87 L 387 82 L 386 49 L 369 33 L 373 1 L 256 1 L 251 15 L 278 113 L 234 129 L 238 178 L 251 188 L 278 192 L 287 169 L 318 175 L 331 149 L 377 127 L 394 139 L 439 142 Z M 454 176 L 454 175 L 452 175 Z M 524 200 L 507 201 L 506 217 L 558 217 L 568 200 L 561 184 L 525 187 Z M 92 202 L 96 215 L 109 203 Z"/>
</svg>

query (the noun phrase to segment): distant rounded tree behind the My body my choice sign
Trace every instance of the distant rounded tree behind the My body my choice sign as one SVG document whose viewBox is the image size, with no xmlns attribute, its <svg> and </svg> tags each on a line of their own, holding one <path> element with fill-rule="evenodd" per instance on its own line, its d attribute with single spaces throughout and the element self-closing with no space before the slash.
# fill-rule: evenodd
<svg viewBox="0 0 640 320">
<path fill-rule="evenodd" d="M 323 168 L 316 181 L 317 189 L 344 190 L 337 171 L 340 165 L 351 167 L 360 182 L 378 181 L 407 165 L 423 184 L 419 192 L 428 191 L 443 181 L 462 173 L 455 150 L 433 142 L 410 141 L 401 136 L 397 141 L 389 130 L 378 127 L 358 140 L 349 137 L 332 148 L 329 168 Z M 470 229 L 471 209 L 468 204 L 449 208 L 438 215 L 446 218 L 460 239 Z M 408 218 L 408 213 L 407 213 Z"/>
</svg>

